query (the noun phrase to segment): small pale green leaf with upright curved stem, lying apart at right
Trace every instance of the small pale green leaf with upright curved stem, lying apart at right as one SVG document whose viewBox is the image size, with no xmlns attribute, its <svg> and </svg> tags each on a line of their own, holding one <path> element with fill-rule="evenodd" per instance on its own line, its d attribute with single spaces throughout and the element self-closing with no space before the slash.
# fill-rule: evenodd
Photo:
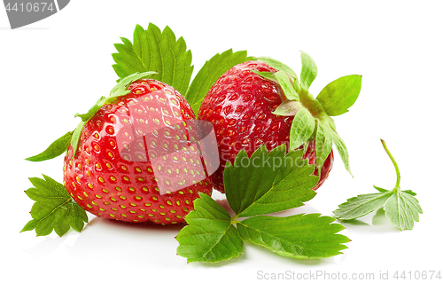
<svg viewBox="0 0 443 283">
<path fill-rule="evenodd" d="M 335 216 L 342 220 L 351 220 L 366 216 L 370 212 L 378 208 L 385 209 L 385 216 L 389 218 L 391 223 L 400 230 L 412 230 L 414 222 L 418 222 L 418 215 L 423 213 L 416 193 L 411 190 L 400 191 L 400 171 L 397 162 L 393 159 L 389 152 L 385 141 L 382 139 L 386 153 L 391 158 L 397 174 L 397 183 L 392 191 L 374 185 L 379 193 L 361 194 L 354 198 L 348 199 L 340 204 L 338 209 L 334 211 Z"/>
</svg>

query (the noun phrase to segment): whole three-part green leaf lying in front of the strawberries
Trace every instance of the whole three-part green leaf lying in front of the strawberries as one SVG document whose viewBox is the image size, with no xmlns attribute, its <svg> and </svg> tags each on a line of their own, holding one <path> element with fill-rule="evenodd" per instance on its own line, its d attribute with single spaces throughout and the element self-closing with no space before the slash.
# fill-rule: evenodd
<svg viewBox="0 0 443 283">
<path fill-rule="evenodd" d="M 244 240 L 293 258 L 340 254 L 349 239 L 337 234 L 345 227 L 333 224 L 330 216 L 262 216 L 298 207 L 314 197 L 311 188 L 318 177 L 310 175 L 314 168 L 301 157 L 301 150 L 286 153 L 284 145 L 269 153 L 261 146 L 250 158 L 245 151 L 238 153 L 223 179 L 229 207 L 236 215 L 229 216 L 215 200 L 200 193 L 195 210 L 185 217 L 189 225 L 176 237 L 177 254 L 187 257 L 188 263 L 218 263 L 241 255 Z M 238 217 L 248 218 L 238 221 Z"/>
</svg>

